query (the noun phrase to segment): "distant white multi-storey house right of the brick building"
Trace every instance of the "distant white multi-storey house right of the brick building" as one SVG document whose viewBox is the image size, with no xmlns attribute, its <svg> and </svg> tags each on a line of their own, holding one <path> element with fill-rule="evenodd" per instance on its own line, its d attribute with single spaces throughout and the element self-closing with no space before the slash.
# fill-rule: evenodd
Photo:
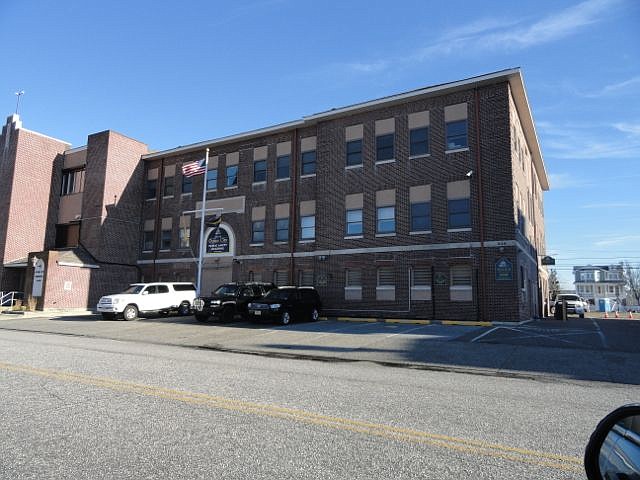
<svg viewBox="0 0 640 480">
<path fill-rule="evenodd" d="M 622 265 L 573 267 L 576 293 L 594 305 L 601 298 L 624 298 Z"/>
</svg>

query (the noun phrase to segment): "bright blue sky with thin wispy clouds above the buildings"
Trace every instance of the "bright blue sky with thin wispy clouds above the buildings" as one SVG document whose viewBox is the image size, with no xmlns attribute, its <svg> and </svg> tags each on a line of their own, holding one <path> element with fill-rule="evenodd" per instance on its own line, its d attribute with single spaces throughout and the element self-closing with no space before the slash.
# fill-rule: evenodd
<svg viewBox="0 0 640 480">
<path fill-rule="evenodd" d="M 640 2 L 120 1 L 0 4 L 0 110 L 71 142 L 160 150 L 511 67 L 551 190 L 547 250 L 640 264 Z"/>
</svg>

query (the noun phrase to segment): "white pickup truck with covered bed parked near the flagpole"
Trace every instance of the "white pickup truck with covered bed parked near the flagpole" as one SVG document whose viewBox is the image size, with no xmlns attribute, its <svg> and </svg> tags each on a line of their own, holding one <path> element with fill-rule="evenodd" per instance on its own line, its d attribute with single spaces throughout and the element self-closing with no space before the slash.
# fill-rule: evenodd
<svg viewBox="0 0 640 480">
<path fill-rule="evenodd" d="M 133 283 L 122 293 L 100 298 L 97 309 L 104 319 L 122 316 L 125 320 L 133 320 L 141 312 L 169 313 L 171 310 L 188 315 L 195 298 L 193 283 Z"/>
</svg>

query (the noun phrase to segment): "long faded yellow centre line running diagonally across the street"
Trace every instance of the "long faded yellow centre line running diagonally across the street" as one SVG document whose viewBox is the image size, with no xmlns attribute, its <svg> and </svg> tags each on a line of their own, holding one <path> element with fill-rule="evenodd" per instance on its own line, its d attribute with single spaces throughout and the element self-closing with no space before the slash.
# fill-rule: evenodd
<svg viewBox="0 0 640 480">
<path fill-rule="evenodd" d="M 286 419 L 305 424 L 383 437 L 396 441 L 433 445 L 470 454 L 501 458 L 516 463 L 527 463 L 559 470 L 582 472 L 582 460 L 577 457 L 510 447 L 497 443 L 470 440 L 448 435 L 440 435 L 409 428 L 333 417 L 294 408 L 234 400 L 205 393 L 187 392 L 126 382 L 112 378 L 65 372 L 61 370 L 34 368 L 26 365 L 13 365 L 3 362 L 0 362 L 0 370 L 36 375 L 63 382 L 73 382 L 82 385 L 107 388 L 114 391 L 164 398 L 167 400 L 236 411 L 245 414 Z"/>
</svg>

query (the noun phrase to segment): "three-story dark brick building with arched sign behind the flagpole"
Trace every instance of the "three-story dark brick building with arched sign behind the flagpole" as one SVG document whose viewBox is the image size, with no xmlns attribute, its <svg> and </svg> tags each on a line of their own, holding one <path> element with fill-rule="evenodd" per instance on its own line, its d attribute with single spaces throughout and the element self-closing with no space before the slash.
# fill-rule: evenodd
<svg viewBox="0 0 640 480">
<path fill-rule="evenodd" d="M 96 175 L 125 188 L 117 218 L 129 227 L 104 221 L 120 187 L 85 180 L 85 199 L 97 190 L 91 204 L 102 207 L 83 207 L 80 243 L 106 254 L 92 253 L 102 270 L 109 248 L 133 249 L 135 261 L 112 263 L 136 264 L 145 281 L 195 280 L 204 190 L 206 216 L 222 216 L 204 232 L 205 292 L 240 280 L 313 285 L 336 316 L 541 312 L 548 180 L 519 69 L 165 151 L 139 145 L 122 146 L 139 166 Z M 182 175 L 207 150 L 207 173 Z"/>
</svg>

